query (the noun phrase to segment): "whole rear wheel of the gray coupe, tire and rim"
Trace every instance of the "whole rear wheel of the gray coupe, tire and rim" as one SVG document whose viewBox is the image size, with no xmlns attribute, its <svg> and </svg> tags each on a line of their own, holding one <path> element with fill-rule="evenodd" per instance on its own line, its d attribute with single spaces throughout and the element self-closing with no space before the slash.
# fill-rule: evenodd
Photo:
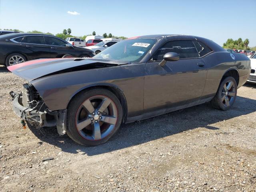
<svg viewBox="0 0 256 192">
<path fill-rule="evenodd" d="M 232 82 L 232 86 L 228 90 L 227 86 L 229 85 L 229 82 Z M 224 88 L 225 86 L 226 86 L 226 90 Z M 211 100 L 212 107 L 219 110 L 223 110 L 223 111 L 230 109 L 236 100 L 236 93 L 237 93 L 236 80 L 233 77 L 224 78 L 222 82 L 220 82 L 220 86 L 217 90 L 216 95 Z"/>
</svg>

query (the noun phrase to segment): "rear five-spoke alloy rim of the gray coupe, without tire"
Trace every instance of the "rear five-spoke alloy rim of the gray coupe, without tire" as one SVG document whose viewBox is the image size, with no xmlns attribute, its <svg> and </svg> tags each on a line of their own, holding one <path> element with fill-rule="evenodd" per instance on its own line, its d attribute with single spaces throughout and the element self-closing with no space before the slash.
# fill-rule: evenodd
<svg viewBox="0 0 256 192">
<path fill-rule="evenodd" d="M 222 88 L 222 95 L 221 95 L 221 100 L 222 103 L 225 106 L 230 106 L 234 102 L 236 96 L 236 87 L 233 81 L 228 80 L 223 88 Z"/>
</svg>

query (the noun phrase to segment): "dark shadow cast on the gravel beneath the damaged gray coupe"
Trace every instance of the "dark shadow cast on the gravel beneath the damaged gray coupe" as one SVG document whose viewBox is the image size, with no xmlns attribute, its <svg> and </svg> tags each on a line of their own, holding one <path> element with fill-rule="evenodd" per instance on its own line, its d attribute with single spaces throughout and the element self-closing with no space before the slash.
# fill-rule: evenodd
<svg viewBox="0 0 256 192">
<path fill-rule="evenodd" d="M 41 128 L 40 130 L 30 128 L 30 130 L 43 142 L 54 145 L 64 152 L 72 154 L 84 152 L 88 156 L 94 156 L 199 127 L 208 130 L 221 130 L 221 127 L 214 127 L 211 124 L 255 111 L 255 100 L 240 96 L 237 96 L 234 106 L 228 111 L 213 109 L 210 103 L 205 103 L 147 120 L 124 124 L 108 142 L 92 147 L 76 144 L 67 135 L 59 136 L 56 128 Z"/>
</svg>

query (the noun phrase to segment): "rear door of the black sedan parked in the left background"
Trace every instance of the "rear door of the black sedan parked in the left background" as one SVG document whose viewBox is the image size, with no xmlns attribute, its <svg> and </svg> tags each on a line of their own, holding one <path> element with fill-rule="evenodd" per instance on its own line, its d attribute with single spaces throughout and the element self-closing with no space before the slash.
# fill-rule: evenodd
<svg viewBox="0 0 256 192">
<path fill-rule="evenodd" d="M 42 35 L 24 36 L 21 46 L 28 50 L 26 52 L 28 60 L 50 58 L 50 46 L 46 45 Z"/>
</svg>

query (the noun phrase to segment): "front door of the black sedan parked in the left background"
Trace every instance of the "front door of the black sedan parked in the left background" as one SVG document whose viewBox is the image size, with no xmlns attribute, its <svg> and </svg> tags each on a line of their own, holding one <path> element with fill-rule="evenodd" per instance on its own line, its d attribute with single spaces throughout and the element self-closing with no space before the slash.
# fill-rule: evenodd
<svg viewBox="0 0 256 192">
<path fill-rule="evenodd" d="M 50 46 L 50 58 L 61 58 L 66 54 L 76 57 L 73 47 L 66 46 L 66 42 L 60 38 L 44 36 L 45 42 Z"/>
</svg>

